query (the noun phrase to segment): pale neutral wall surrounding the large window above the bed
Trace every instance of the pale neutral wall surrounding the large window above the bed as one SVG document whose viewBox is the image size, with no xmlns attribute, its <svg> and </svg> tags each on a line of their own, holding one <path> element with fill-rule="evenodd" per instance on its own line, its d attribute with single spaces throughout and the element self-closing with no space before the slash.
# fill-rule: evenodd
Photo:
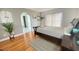
<svg viewBox="0 0 79 59">
<path fill-rule="evenodd" d="M 69 24 L 75 17 L 79 18 L 78 8 L 57 8 L 57 9 L 43 12 L 42 16 L 45 16 L 47 14 L 59 13 L 59 12 L 63 13 L 62 26 L 66 26 L 67 24 Z M 44 26 L 44 21 L 45 19 L 42 20 L 42 26 Z"/>
</svg>

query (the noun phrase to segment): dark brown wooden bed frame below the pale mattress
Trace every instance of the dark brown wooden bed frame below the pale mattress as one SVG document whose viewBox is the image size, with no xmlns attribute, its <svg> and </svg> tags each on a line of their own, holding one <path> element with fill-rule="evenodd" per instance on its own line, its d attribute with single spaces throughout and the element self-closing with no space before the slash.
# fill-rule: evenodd
<svg viewBox="0 0 79 59">
<path fill-rule="evenodd" d="M 61 47 L 61 51 L 72 51 L 66 47 L 63 47 L 61 45 L 62 43 L 62 39 L 59 39 L 59 38 L 56 38 L 56 37 L 53 37 L 53 36 L 49 36 L 49 35 L 46 35 L 46 34 L 43 34 L 43 33 L 39 33 L 39 32 L 36 32 L 37 35 L 39 35 L 40 37 L 44 38 L 45 40 L 47 41 L 50 41 L 58 46 Z"/>
</svg>

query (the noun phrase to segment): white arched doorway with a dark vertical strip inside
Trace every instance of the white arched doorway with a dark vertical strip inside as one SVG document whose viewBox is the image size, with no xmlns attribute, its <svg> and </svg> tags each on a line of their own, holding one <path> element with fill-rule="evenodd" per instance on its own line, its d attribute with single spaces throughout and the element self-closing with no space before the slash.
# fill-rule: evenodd
<svg viewBox="0 0 79 59">
<path fill-rule="evenodd" d="M 21 15 L 21 23 L 23 28 L 23 33 L 28 33 L 31 31 L 31 20 L 30 15 L 27 13 L 22 13 Z"/>
</svg>

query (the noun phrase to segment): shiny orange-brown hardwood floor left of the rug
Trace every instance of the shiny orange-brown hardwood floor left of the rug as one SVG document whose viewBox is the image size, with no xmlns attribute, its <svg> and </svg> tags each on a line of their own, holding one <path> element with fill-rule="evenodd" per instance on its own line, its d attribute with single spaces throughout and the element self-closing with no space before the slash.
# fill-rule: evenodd
<svg viewBox="0 0 79 59">
<path fill-rule="evenodd" d="M 13 40 L 0 42 L 0 50 L 3 51 L 34 51 L 29 42 L 34 40 L 33 33 L 28 33 L 16 37 Z"/>
</svg>

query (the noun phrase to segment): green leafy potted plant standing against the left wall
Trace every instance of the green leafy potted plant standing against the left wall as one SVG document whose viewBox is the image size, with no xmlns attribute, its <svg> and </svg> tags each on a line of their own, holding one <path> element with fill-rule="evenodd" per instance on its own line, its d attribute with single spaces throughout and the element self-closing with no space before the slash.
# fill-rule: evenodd
<svg viewBox="0 0 79 59">
<path fill-rule="evenodd" d="M 10 40 L 14 38 L 13 23 L 12 22 L 2 23 L 2 26 L 4 27 L 4 30 L 9 34 Z"/>
</svg>

